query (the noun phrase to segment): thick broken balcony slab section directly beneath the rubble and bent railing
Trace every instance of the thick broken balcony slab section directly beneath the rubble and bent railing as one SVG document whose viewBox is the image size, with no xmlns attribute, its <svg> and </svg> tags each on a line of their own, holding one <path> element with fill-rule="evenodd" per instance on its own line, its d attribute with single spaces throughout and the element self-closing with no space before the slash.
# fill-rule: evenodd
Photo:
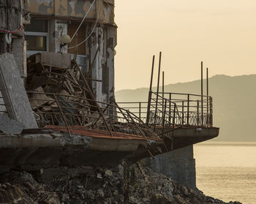
<svg viewBox="0 0 256 204">
<path fill-rule="evenodd" d="M 37 130 L 35 130 L 37 131 Z M 53 132 L 0 135 L 0 165 L 116 166 L 132 152 L 148 148 L 148 141 L 127 137 L 91 137 Z M 161 141 L 151 141 L 161 145 Z"/>
</svg>

